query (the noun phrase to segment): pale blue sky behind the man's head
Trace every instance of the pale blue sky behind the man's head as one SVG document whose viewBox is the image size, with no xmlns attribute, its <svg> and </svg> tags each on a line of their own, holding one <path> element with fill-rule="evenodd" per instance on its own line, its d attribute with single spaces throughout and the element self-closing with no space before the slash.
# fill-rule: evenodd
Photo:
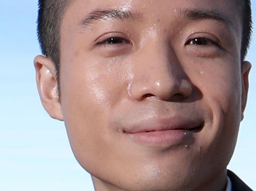
<svg viewBox="0 0 256 191">
<path fill-rule="evenodd" d="M 252 0 L 254 23 L 256 1 Z M 51 119 L 38 96 L 33 59 L 36 0 L 0 0 L 0 191 L 93 191 L 73 156 L 63 122 Z M 256 33 L 256 30 L 254 30 Z M 247 60 L 250 89 L 238 143 L 228 168 L 256 190 L 256 35 Z"/>
</svg>

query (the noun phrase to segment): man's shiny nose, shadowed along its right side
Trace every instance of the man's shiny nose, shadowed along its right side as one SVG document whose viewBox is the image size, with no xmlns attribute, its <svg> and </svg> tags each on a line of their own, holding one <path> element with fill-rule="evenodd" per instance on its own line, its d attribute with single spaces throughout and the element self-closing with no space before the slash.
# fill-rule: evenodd
<svg viewBox="0 0 256 191">
<path fill-rule="evenodd" d="M 191 95 L 192 84 L 171 47 L 148 44 L 136 53 L 134 62 L 132 98 L 182 101 Z"/>
</svg>

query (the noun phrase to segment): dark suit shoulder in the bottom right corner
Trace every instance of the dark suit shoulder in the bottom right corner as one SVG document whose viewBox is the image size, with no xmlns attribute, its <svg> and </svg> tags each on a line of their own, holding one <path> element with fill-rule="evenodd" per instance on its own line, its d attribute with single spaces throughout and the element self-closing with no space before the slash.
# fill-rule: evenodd
<svg viewBox="0 0 256 191">
<path fill-rule="evenodd" d="M 227 176 L 229 176 L 232 182 L 232 191 L 253 191 L 234 172 L 227 170 Z"/>
</svg>

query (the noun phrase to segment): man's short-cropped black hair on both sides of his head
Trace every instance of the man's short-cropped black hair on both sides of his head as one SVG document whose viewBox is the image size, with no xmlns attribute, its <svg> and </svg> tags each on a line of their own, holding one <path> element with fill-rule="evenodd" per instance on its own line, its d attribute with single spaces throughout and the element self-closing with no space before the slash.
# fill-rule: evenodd
<svg viewBox="0 0 256 191">
<path fill-rule="evenodd" d="M 241 61 L 245 59 L 252 36 L 252 10 L 250 0 L 236 0 L 242 13 Z M 51 59 L 55 65 L 59 83 L 60 65 L 60 23 L 72 0 L 39 0 L 38 1 L 38 40 L 42 54 Z M 59 85 L 59 84 L 58 84 Z M 60 92 L 59 92 L 60 93 Z"/>
</svg>

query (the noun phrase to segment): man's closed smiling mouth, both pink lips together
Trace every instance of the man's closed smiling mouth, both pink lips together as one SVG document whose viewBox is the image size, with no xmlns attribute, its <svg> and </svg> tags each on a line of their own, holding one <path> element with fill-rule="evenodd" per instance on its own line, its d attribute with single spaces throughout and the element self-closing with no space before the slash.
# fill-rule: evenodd
<svg viewBox="0 0 256 191">
<path fill-rule="evenodd" d="M 150 147 L 191 145 L 195 134 L 203 127 L 199 118 L 151 117 L 125 128 L 123 131 L 132 141 Z"/>
</svg>

